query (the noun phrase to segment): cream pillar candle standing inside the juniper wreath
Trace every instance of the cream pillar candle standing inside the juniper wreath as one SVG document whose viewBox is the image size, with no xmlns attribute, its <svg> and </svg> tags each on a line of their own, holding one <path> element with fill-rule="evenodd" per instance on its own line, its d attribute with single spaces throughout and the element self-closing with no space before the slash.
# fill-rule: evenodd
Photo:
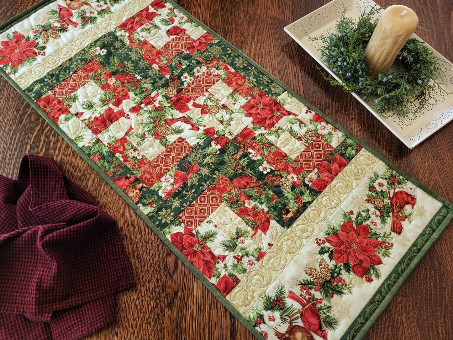
<svg viewBox="0 0 453 340">
<path fill-rule="evenodd" d="M 384 10 L 365 49 L 372 75 L 390 69 L 418 23 L 419 18 L 409 7 L 392 5 Z"/>
</svg>

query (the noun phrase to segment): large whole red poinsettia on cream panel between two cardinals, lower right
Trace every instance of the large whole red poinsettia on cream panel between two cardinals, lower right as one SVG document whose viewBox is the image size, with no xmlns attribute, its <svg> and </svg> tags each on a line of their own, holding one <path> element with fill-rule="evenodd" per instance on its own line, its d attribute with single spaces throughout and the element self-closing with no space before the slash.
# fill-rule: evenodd
<svg viewBox="0 0 453 340">
<path fill-rule="evenodd" d="M 366 224 L 357 228 L 351 223 L 343 222 L 340 231 L 326 238 L 326 241 L 335 248 L 333 259 L 337 263 L 351 262 L 351 270 L 358 277 L 364 277 L 366 269 L 371 264 L 382 264 L 381 257 L 376 254 L 379 241 L 368 238 L 370 229 Z"/>
</svg>

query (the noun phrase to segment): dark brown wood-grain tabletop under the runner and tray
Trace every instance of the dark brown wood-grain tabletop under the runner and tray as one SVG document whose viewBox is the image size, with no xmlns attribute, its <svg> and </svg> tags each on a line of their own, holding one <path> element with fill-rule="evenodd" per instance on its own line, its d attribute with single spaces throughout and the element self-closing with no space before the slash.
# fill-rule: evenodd
<svg viewBox="0 0 453 340">
<path fill-rule="evenodd" d="M 0 22 L 37 0 L 0 0 Z M 453 124 L 414 150 L 403 145 L 350 94 L 331 87 L 317 63 L 283 27 L 328 0 L 180 0 L 215 32 L 280 78 L 353 135 L 453 201 Z M 385 0 L 391 5 L 394 0 Z M 14 5 L 13 5 L 14 4 Z M 453 60 L 453 1 L 399 0 L 419 14 L 416 33 Z M 382 5 L 382 3 L 381 3 Z M 119 294 L 118 320 L 86 339 L 226 340 L 254 337 L 202 285 L 99 175 L 19 95 L 0 79 L 0 174 L 17 178 L 25 153 L 53 156 L 118 221 L 137 286 Z M 453 225 L 440 236 L 373 325 L 367 340 L 453 337 Z"/>
</svg>

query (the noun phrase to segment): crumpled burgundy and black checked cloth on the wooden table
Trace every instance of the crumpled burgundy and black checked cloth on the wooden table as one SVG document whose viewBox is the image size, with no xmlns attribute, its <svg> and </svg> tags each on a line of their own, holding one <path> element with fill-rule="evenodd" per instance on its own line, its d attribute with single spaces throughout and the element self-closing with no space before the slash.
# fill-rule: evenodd
<svg viewBox="0 0 453 340">
<path fill-rule="evenodd" d="M 0 175 L 0 339 L 79 339 L 134 284 L 115 220 L 52 157 Z"/>
</svg>

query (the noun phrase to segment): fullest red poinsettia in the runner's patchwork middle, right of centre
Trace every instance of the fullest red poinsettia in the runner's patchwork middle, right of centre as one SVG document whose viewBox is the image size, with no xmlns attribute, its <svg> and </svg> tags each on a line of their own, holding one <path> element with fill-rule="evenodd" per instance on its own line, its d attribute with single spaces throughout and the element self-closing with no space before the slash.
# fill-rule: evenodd
<svg viewBox="0 0 453 340">
<path fill-rule="evenodd" d="M 242 108 L 246 111 L 245 117 L 253 118 L 252 124 L 265 126 L 267 130 L 277 124 L 282 117 L 290 115 L 280 103 L 261 90 L 252 96 Z"/>
</svg>

